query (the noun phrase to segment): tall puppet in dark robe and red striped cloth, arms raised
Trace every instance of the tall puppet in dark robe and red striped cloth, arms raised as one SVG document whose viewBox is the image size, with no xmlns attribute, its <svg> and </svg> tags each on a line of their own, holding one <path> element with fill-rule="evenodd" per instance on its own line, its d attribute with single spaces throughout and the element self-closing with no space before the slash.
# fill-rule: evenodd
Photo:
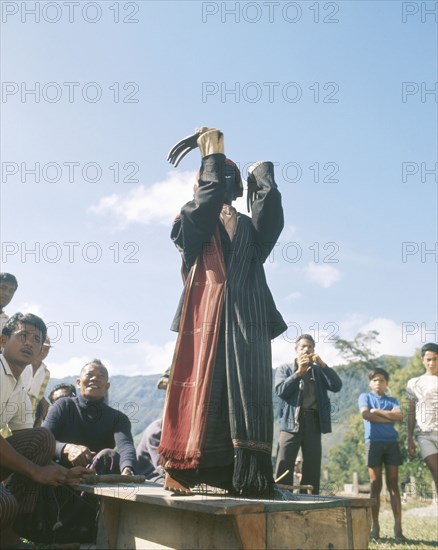
<svg viewBox="0 0 438 550">
<path fill-rule="evenodd" d="M 287 328 L 263 269 L 284 225 L 281 195 L 273 164 L 256 163 L 248 171 L 252 216 L 238 213 L 231 203 L 243 185 L 222 132 L 201 128 L 170 162 L 195 147 L 198 185 L 171 233 L 185 286 L 159 452 L 168 489 L 207 483 L 260 494 L 273 482 L 271 339 Z"/>
</svg>

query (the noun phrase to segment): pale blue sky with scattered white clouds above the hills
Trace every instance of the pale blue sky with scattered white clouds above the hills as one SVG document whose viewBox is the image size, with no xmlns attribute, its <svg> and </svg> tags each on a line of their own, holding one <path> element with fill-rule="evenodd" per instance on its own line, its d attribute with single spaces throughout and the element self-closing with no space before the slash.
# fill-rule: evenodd
<svg viewBox="0 0 438 550">
<path fill-rule="evenodd" d="M 111 374 L 170 364 L 169 233 L 199 153 L 166 156 L 203 125 L 245 178 L 276 165 L 274 366 L 298 331 L 329 364 L 335 335 L 375 329 L 400 355 L 437 340 L 436 3 L 1 4 L 6 311 L 49 324 L 54 376 L 93 357 Z"/>
</svg>

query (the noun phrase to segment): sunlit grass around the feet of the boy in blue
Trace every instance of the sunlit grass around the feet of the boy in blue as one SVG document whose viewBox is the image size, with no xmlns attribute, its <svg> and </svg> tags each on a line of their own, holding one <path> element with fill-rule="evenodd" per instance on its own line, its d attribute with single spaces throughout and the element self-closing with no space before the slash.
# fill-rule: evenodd
<svg viewBox="0 0 438 550">
<path fill-rule="evenodd" d="M 402 527 L 407 541 L 396 543 L 394 540 L 394 519 L 391 506 L 382 499 L 380 507 L 380 539 L 370 541 L 371 550 L 425 550 L 438 548 L 438 514 L 432 501 L 409 500 L 403 503 Z"/>
</svg>

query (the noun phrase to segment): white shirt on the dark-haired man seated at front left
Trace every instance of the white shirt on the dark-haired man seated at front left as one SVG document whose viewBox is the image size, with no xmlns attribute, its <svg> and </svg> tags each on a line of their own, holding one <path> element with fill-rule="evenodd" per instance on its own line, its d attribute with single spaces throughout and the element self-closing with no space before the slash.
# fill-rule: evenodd
<svg viewBox="0 0 438 550">
<path fill-rule="evenodd" d="M 33 427 L 32 404 L 23 387 L 12 374 L 3 354 L 0 354 L 0 430 L 24 430 Z"/>
</svg>

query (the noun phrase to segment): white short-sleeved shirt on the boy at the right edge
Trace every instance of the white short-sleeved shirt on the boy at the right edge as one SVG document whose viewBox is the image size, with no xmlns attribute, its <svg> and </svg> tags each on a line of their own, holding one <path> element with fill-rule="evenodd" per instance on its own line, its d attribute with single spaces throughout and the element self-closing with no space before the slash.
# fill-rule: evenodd
<svg viewBox="0 0 438 550">
<path fill-rule="evenodd" d="M 415 433 L 438 431 L 438 376 L 423 374 L 408 380 L 406 397 L 415 401 Z"/>
</svg>

